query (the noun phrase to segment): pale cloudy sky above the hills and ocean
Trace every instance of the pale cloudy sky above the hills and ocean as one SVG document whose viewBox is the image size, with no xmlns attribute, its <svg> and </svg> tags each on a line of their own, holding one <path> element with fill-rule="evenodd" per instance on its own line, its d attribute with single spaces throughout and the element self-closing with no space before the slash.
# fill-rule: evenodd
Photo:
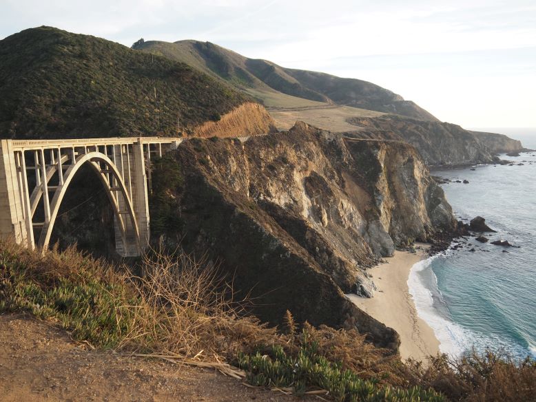
<svg viewBox="0 0 536 402">
<path fill-rule="evenodd" d="M 211 41 L 370 81 L 466 128 L 536 127 L 535 0 L 0 0 L 0 38 L 39 25 Z"/>
</svg>

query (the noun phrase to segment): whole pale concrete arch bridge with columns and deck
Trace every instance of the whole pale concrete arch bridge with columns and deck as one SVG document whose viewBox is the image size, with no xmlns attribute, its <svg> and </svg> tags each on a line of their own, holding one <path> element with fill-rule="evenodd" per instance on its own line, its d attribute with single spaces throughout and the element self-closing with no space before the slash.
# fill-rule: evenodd
<svg viewBox="0 0 536 402">
<path fill-rule="evenodd" d="M 114 211 L 116 251 L 137 256 L 149 242 L 151 158 L 181 138 L 0 141 L 0 237 L 48 248 L 69 184 L 83 165 L 99 176 Z"/>
</svg>

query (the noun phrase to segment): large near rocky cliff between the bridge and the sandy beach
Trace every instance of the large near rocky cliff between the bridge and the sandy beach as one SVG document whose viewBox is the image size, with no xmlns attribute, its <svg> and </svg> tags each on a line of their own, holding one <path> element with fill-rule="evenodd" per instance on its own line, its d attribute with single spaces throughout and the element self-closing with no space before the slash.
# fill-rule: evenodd
<svg viewBox="0 0 536 402">
<path fill-rule="evenodd" d="M 152 209 L 167 211 L 152 220 L 175 222 L 153 226 L 155 240 L 220 259 L 262 319 L 276 323 L 289 309 L 298 321 L 357 326 L 391 348 L 398 335 L 344 293 L 370 292 L 364 269 L 395 245 L 455 224 L 413 147 L 304 123 L 245 142 L 185 141 L 152 177 Z"/>
</svg>

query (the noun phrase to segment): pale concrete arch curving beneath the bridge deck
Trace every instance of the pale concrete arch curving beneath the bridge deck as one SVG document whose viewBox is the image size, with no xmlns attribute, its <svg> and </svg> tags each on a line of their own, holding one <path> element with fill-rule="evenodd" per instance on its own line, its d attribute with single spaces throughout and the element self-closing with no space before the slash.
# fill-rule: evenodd
<svg viewBox="0 0 536 402">
<path fill-rule="evenodd" d="M 61 206 L 61 201 L 65 196 L 65 192 L 67 191 L 70 182 L 76 175 L 76 172 L 79 171 L 79 169 L 85 163 L 90 164 L 92 169 L 99 176 L 101 183 L 105 187 L 108 199 L 112 204 L 112 209 L 114 211 L 116 222 L 118 222 L 119 230 L 121 232 L 121 242 L 123 242 L 123 246 L 127 248 L 127 228 L 124 215 L 128 215 L 128 218 L 130 218 L 130 221 L 132 222 L 132 226 L 134 226 L 136 242 L 138 243 L 137 247 L 140 248 L 138 222 L 136 220 L 136 214 L 134 213 L 132 200 L 130 200 L 129 193 L 127 192 L 127 187 L 125 186 L 125 182 L 123 181 L 121 173 L 118 171 L 116 165 L 114 165 L 114 162 L 112 162 L 112 160 L 110 160 L 110 158 L 108 158 L 105 154 L 101 154 L 101 152 L 98 151 L 90 152 L 79 158 L 76 158 L 74 164 L 70 165 L 68 170 L 65 171 L 65 174 L 63 175 L 63 184 L 60 184 L 58 186 L 58 188 L 54 192 L 52 202 L 50 202 L 50 219 L 48 223 L 45 223 L 43 225 L 43 229 L 41 230 L 41 235 L 39 236 L 39 242 L 37 245 L 43 250 L 48 248 L 50 236 L 52 235 L 52 229 L 54 229 L 54 222 L 56 221 L 56 217 L 59 212 L 59 207 Z M 52 177 L 52 175 L 50 175 L 50 177 Z M 123 198 L 123 203 L 126 208 L 125 211 L 120 210 L 119 195 L 121 195 L 121 197 Z"/>
</svg>

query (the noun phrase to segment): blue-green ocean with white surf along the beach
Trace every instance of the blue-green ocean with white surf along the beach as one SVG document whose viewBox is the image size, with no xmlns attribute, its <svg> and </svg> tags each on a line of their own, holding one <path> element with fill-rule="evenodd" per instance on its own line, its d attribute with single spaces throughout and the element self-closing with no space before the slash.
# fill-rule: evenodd
<svg viewBox="0 0 536 402">
<path fill-rule="evenodd" d="M 536 149 L 536 129 L 485 131 L 507 134 Z M 462 248 L 413 266 L 408 284 L 418 315 L 449 355 L 489 348 L 516 359 L 536 357 L 536 152 L 501 158 L 515 165 L 431 171 L 469 181 L 442 184 L 457 219 L 468 222 L 480 215 L 497 231 L 484 234 L 490 242 L 502 239 L 519 246 L 483 244 L 470 237 Z"/>
</svg>

